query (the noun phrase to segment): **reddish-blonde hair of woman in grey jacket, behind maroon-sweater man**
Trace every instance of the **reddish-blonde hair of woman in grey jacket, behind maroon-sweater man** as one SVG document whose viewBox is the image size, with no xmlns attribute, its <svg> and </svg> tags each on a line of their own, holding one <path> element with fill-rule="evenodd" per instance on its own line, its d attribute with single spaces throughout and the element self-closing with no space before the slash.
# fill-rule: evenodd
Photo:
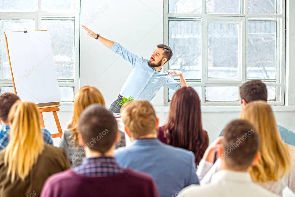
<svg viewBox="0 0 295 197">
<path fill-rule="evenodd" d="M 81 87 L 75 96 L 73 116 L 68 125 L 68 129 L 72 131 L 72 135 L 74 136 L 73 142 L 78 140 L 77 126 L 80 114 L 87 106 L 94 103 L 105 106 L 104 97 L 99 90 L 93 86 Z"/>
</svg>

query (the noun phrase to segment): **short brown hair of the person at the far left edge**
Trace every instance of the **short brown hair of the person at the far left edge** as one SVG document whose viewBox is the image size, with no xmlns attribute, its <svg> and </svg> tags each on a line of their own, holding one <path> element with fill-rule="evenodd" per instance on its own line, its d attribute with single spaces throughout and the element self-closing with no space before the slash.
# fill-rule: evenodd
<svg viewBox="0 0 295 197">
<path fill-rule="evenodd" d="M 12 92 L 4 92 L 0 95 L 0 118 L 3 122 L 7 122 L 9 110 L 17 100 L 20 100 L 19 97 Z"/>
</svg>

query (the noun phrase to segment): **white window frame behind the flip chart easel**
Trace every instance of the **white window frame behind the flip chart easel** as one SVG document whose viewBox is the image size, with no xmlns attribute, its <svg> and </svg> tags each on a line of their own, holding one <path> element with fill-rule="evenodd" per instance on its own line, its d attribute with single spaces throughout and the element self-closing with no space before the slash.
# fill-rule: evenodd
<svg viewBox="0 0 295 197">
<path fill-rule="evenodd" d="M 42 0 L 38 0 L 38 10 L 36 12 L 0 12 L 0 19 L 33 19 L 35 22 L 34 30 L 42 30 L 42 17 L 66 17 L 74 19 L 74 65 L 73 79 L 59 79 L 60 87 L 73 87 L 74 95 L 79 89 L 79 44 L 80 44 L 80 0 L 75 0 L 75 12 L 41 12 Z M 4 35 L 3 35 L 4 36 Z M 2 49 L 3 50 L 3 49 Z M 4 49 L 6 50 L 6 49 Z M 12 79 L 0 79 L 0 87 L 12 87 Z M 74 98 L 73 98 L 74 99 Z M 68 103 L 65 101 L 61 103 Z"/>
</svg>

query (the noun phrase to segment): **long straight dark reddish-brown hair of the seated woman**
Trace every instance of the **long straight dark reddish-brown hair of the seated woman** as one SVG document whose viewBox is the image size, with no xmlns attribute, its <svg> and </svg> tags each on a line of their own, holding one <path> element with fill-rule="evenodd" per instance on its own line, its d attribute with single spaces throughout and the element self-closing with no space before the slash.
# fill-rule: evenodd
<svg viewBox="0 0 295 197">
<path fill-rule="evenodd" d="M 196 166 L 209 144 L 202 128 L 201 103 L 192 87 L 178 89 L 172 97 L 168 123 L 159 128 L 158 138 L 165 144 L 192 151 Z"/>
</svg>

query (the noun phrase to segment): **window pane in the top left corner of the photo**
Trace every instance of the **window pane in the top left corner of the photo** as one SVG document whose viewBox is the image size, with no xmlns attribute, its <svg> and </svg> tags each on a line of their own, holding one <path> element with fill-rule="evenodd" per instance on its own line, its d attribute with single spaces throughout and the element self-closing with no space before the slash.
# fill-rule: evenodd
<svg viewBox="0 0 295 197">
<path fill-rule="evenodd" d="M 0 0 L 0 12 L 36 12 L 37 0 Z"/>
</svg>

